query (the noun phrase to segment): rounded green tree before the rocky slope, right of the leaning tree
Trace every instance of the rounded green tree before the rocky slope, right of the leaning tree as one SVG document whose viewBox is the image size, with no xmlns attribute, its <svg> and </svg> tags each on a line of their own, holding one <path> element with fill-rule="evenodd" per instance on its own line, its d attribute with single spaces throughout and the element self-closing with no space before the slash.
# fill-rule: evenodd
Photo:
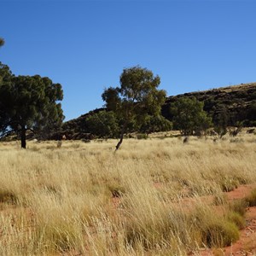
<svg viewBox="0 0 256 256">
<path fill-rule="evenodd" d="M 196 100 L 195 97 L 181 97 L 171 104 L 170 111 L 173 115 L 173 125 L 183 135 L 201 134 L 212 124 L 212 119 L 207 117 L 203 110 L 204 103 Z"/>
</svg>

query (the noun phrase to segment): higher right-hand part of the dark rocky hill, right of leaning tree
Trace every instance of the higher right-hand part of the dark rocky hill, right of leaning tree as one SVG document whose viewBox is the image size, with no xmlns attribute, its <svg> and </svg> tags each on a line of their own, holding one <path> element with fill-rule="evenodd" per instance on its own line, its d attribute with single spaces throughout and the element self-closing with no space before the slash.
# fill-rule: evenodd
<svg viewBox="0 0 256 256">
<path fill-rule="evenodd" d="M 243 121 L 246 126 L 256 125 L 256 83 L 169 96 L 162 107 L 162 115 L 166 119 L 172 120 L 170 105 L 179 97 L 195 97 L 204 102 L 204 110 L 212 115 L 213 120 L 219 112 L 225 111 L 229 116 L 229 125 L 236 125 L 237 121 Z"/>
</svg>

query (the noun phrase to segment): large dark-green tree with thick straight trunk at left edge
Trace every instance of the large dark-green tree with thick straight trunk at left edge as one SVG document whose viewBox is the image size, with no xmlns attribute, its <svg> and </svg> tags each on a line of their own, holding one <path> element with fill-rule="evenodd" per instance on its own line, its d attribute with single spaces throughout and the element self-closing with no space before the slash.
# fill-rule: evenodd
<svg viewBox="0 0 256 256">
<path fill-rule="evenodd" d="M 0 137 L 17 131 L 21 148 L 26 148 L 27 130 L 61 125 L 62 98 L 61 84 L 39 75 L 16 77 L 0 62 Z"/>
</svg>

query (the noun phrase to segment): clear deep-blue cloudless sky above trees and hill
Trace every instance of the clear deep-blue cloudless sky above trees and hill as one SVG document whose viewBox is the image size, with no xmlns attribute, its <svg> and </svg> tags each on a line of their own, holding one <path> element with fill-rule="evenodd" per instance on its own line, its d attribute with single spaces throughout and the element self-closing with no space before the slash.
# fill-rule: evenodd
<svg viewBox="0 0 256 256">
<path fill-rule="evenodd" d="M 61 83 L 66 120 L 101 108 L 125 67 L 168 96 L 256 81 L 254 0 L 0 0 L 0 61 Z"/>
</svg>

